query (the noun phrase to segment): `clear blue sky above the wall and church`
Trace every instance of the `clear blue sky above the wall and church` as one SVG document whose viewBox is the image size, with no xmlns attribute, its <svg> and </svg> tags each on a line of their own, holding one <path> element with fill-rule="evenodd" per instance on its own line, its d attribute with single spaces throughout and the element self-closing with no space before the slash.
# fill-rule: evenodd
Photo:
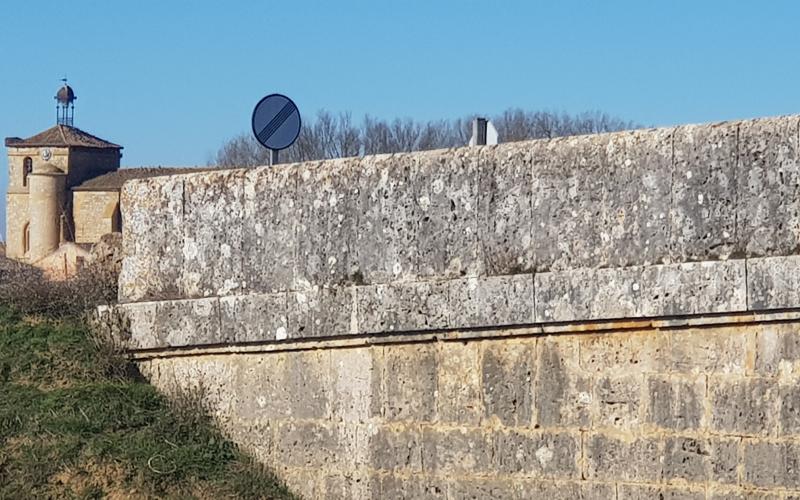
<svg viewBox="0 0 800 500">
<path fill-rule="evenodd" d="M 275 91 L 306 115 L 356 118 L 800 112 L 800 2 L 26 0 L 0 12 L 0 137 L 52 126 L 66 74 L 75 125 L 125 146 L 126 166 L 204 164 Z M 3 153 L 3 197 L 6 182 Z"/>
</svg>

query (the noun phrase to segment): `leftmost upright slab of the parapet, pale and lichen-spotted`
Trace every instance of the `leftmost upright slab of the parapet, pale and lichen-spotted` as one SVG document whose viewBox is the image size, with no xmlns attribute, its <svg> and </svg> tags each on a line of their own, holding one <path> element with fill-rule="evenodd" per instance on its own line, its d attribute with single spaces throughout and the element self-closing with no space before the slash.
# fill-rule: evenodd
<svg viewBox="0 0 800 500">
<path fill-rule="evenodd" d="M 120 199 L 125 227 L 120 302 L 180 298 L 183 177 L 127 182 Z"/>
</svg>

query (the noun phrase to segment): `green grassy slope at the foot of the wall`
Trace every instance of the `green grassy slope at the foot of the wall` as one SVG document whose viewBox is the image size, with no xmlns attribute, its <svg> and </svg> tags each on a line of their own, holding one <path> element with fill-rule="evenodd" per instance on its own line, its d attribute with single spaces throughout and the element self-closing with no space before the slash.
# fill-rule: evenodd
<svg viewBox="0 0 800 500">
<path fill-rule="evenodd" d="M 0 498 L 291 498 L 121 363 L 80 322 L 0 306 Z"/>
</svg>

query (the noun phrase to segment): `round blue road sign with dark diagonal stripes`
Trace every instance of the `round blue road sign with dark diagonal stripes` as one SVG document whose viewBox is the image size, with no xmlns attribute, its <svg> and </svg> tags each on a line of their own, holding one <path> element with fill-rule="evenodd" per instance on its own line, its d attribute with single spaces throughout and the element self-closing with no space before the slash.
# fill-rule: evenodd
<svg viewBox="0 0 800 500">
<path fill-rule="evenodd" d="M 252 121 L 256 140 L 275 151 L 288 148 L 300 135 L 300 111 L 282 94 L 270 94 L 258 101 Z"/>
</svg>

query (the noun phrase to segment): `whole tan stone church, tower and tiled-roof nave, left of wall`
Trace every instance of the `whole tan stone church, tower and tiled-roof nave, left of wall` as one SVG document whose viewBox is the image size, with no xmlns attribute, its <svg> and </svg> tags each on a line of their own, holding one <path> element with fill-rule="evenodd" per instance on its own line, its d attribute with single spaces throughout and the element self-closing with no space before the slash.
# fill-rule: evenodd
<svg viewBox="0 0 800 500">
<path fill-rule="evenodd" d="M 66 82 L 55 99 L 55 126 L 5 140 L 6 257 L 64 276 L 80 268 L 101 236 L 121 230 L 125 181 L 176 169 L 120 169 L 122 146 L 74 126 L 76 97 Z"/>
</svg>

